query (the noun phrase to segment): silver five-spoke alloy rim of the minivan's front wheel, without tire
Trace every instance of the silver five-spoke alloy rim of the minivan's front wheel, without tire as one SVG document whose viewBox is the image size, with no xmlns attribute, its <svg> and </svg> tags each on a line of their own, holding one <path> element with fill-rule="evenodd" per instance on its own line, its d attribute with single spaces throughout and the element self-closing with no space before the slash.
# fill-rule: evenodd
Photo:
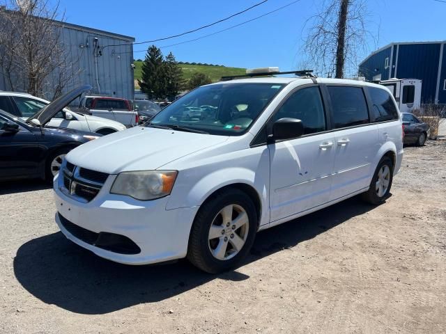
<svg viewBox="0 0 446 334">
<path fill-rule="evenodd" d="M 210 253 L 217 260 L 236 256 L 248 237 L 249 217 L 240 205 L 226 205 L 213 219 L 208 233 Z"/>
</svg>

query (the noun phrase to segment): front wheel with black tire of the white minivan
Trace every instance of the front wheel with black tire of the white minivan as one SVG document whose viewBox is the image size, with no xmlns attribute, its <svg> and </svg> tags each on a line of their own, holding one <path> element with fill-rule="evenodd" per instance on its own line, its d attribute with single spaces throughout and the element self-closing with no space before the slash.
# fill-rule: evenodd
<svg viewBox="0 0 446 334">
<path fill-rule="evenodd" d="M 238 189 L 216 193 L 194 219 L 187 259 L 208 273 L 233 269 L 254 244 L 257 222 L 256 207 L 246 193 Z"/>
</svg>

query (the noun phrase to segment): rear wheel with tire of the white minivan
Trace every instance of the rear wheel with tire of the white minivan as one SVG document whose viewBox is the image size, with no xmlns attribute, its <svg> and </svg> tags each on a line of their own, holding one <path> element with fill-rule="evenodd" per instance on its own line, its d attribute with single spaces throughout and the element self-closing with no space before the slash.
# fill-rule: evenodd
<svg viewBox="0 0 446 334">
<path fill-rule="evenodd" d="M 380 173 L 381 172 L 381 173 Z M 383 177 L 380 177 L 383 175 Z M 387 182 L 383 182 L 387 181 Z M 362 199 L 373 205 L 383 203 L 389 196 L 393 181 L 393 163 L 389 157 L 383 157 L 371 178 L 369 190 L 362 193 Z M 380 182 L 378 184 L 378 182 Z M 385 188 L 387 184 L 387 188 Z M 381 186 L 383 186 L 381 188 Z"/>
</svg>

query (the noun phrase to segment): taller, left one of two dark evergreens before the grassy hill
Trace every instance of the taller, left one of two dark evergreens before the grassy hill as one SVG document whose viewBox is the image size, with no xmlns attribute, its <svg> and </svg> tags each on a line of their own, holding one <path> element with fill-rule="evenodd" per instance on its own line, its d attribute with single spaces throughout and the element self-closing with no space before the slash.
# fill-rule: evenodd
<svg viewBox="0 0 446 334">
<path fill-rule="evenodd" d="M 148 48 L 146 58 L 141 67 L 141 80 L 138 80 L 141 91 L 149 99 L 163 99 L 166 92 L 164 60 L 162 52 L 155 45 Z"/>
</svg>

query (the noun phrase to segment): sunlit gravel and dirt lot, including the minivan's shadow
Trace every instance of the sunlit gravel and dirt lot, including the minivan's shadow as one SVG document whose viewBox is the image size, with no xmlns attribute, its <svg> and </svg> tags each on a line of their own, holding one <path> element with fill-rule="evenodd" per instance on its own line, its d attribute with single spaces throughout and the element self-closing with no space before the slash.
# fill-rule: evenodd
<svg viewBox="0 0 446 334">
<path fill-rule="evenodd" d="M 0 333 L 445 333 L 446 142 L 406 148 L 392 197 L 259 233 L 243 267 L 126 267 L 71 244 L 52 190 L 0 185 Z"/>
</svg>

